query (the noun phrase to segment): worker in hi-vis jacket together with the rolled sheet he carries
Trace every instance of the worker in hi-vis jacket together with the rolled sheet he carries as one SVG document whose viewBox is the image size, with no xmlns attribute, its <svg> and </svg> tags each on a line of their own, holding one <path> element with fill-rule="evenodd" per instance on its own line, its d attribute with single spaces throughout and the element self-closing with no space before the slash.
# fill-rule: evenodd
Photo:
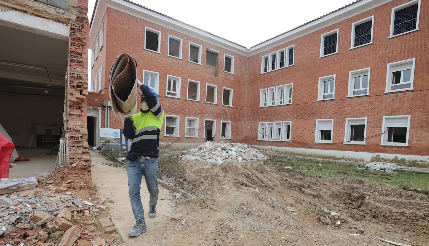
<svg viewBox="0 0 429 246">
<path fill-rule="evenodd" d="M 117 63 L 118 58 L 120 58 L 121 61 Z M 112 65 L 112 70 L 114 68 L 118 68 L 121 69 L 122 72 L 117 73 L 117 71 L 111 71 L 110 74 L 119 74 L 116 76 L 116 80 L 121 81 L 120 83 L 124 83 L 126 85 L 136 83 L 142 90 L 142 94 L 140 95 L 140 113 L 132 114 L 136 111 L 136 107 L 132 104 L 133 101 L 136 101 L 136 98 L 133 98 L 136 97 L 134 89 L 118 84 L 116 83 L 116 80 L 111 83 L 112 89 L 116 93 L 111 93 L 110 95 L 113 112 L 115 113 L 113 105 L 117 105 L 118 115 L 120 115 L 120 118 L 125 119 L 124 136 L 127 139 L 132 139 L 130 152 L 127 155 L 127 175 L 128 194 L 130 195 L 131 208 L 133 209 L 134 218 L 136 219 L 136 225 L 134 225 L 134 228 L 128 232 L 128 236 L 136 237 L 147 231 L 142 200 L 140 198 L 142 176 L 145 176 L 146 186 L 148 187 L 150 194 L 149 218 L 154 218 L 157 214 L 156 205 L 159 193 L 157 182 L 159 164 L 158 146 L 160 142 L 160 131 L 164 119 L 164 111 L 161 104 L 158 102 L 158 94 L 155 89 L 138 81 L 135 78 L 136 76 L 134 76 L 135 74 L 131 74 L 131 76 L 129 74 L 122 74 L 123 72 L 129 73 L 132 71 L 127 67 L 130 65 L 130 61 L 130 67 L 133 68 L 134 65 L 136 67 L 136 60 L 128 54 L 121 54 L 118 58 L 116 58 L 114 65 Z M 122 59 L 125 59 L 128 62 L 127 65 L 124 66 L 121 64 L 125 63 L 122 62 Z M 115 63 L 121 65 L 115 66 Z M 118 88 L 124 89 L 124 92 L 117 90 Z M 130 94 L 127 95 L 127 93 Z M 115 101 L 118 100 L 118 98 L 121 101 Z M 127 98 L 125 101 L 122 100 L 125 98 Z M 127 111 L 123 111 L 119 114 L 120 109 L 122 111 Z M 117 113 L 115 113 L 115 115 Z"/>
</svg>

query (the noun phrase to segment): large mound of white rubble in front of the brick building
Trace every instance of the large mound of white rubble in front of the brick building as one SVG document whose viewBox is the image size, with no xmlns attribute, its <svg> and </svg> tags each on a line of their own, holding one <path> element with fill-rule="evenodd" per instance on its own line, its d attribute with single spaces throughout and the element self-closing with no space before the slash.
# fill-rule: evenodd
<svg viewBox="0 0 429 246">
<path fill-rule="evenodd" d="M 205 142 L 197 148 L 191 148 L 182 155 L 182 160 L 202 160 L 219 165 L 224 162 L 265 159 L 259 150 L 244 143 Z"/>
</svg>

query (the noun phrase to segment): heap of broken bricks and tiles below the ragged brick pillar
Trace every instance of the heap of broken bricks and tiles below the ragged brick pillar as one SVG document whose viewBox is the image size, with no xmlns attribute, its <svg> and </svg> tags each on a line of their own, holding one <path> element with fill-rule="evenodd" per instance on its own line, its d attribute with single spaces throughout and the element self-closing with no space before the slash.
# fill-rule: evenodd
<svg viewBox="0 0 429 246">
<path fill-rule="evenodd" d="M 113 201 L 74 195 L 76 189 L 92 184 L 85 179 L 82 172 L 64 168 L 40 180 L 48 191 L 35 190 L 30 195 L 14 193 L 8 198 L 1 196 L 0 245 L 73 246 L 76 241 L 78 245 L 92 245 L 94 240 L 103 240 L 100 245 L 106 245 L 104 239 L 97 237 L 100 233 L 112 234 L 116 227 L 100 212 L 107 207 L 102 205 L 104 202 Z M 94 225 L 96 216 L 100 217 Z M 112 241 L 113 237 L 107 245 Z"/>
</svg>

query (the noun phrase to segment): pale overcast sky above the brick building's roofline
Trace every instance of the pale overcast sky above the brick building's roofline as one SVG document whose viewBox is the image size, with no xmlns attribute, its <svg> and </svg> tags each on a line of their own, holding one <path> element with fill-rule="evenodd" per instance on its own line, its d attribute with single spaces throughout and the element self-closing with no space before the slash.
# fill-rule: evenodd
<svg viewBox="0 0 429 246">
<path fill-rule="evenodd" d="M 353 0 L 134 0 L 133 2 L 249 48 L 346 6 Z M 89 0 L 89 20 L 92 18 L 94 4 L 95 0 Z M 91 50 L 88 61 L 90 78 Z"/>
</svg>

